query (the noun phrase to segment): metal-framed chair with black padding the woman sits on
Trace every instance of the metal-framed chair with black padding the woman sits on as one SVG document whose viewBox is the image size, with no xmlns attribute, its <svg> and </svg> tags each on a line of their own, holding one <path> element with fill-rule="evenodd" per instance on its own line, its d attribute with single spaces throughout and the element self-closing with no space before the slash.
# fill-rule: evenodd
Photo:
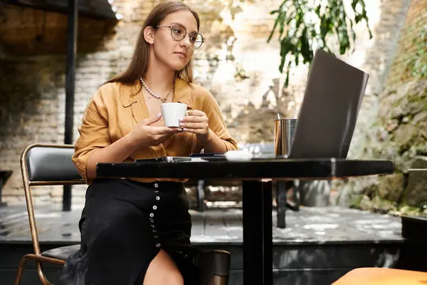
<svg viewBox="0 0 427 285">
<path fill-rule="evenodd" d="M 28 219 L 30 223 L 33 254 L 26 254 L 19 262 L 15 285 L 19 285 L 23 267 L 28 259 L 36 261 L 37 274 L 43 284 L 51 284 L 43 273 L 44 262 L 65 264 L 70 254 L 80 249 L 80 244 L 58 247 L 41 252 L 38 242 L 36 219 L 34 217 L 31 186 L 78 185 L 85 181 L 73 165 L 73 145 L 33 144 L 26 147 L 21 155 L 21 172 L 25 191 Z M 200 285 L 226 285 L 230 269 L 231 255 L 222 250 L 202 252 L 196 258 L 199 267 Z"/>
</svg>

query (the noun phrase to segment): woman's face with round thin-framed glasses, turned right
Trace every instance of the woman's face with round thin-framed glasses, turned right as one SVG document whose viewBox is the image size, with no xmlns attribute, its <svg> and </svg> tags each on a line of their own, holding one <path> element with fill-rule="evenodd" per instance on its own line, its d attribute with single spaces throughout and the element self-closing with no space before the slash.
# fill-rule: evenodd
<svg viewBox="0 0 427 285">
<path fill-rule="evenodd" d="M 179 71 L 193 56 L 191 41 L 197 36 L 197 21 L 190 11 L 177 11 L 166 16 L 159 26 L 153 34 L 154 55 L 169 68 Z"/>
</svg>

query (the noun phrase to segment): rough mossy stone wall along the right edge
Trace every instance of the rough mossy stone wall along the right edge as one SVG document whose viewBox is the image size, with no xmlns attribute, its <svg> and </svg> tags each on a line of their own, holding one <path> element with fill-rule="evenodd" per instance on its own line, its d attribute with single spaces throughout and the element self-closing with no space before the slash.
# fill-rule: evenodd
<svg viewBox="0 0 427 285">
<path fill-rule="evenodd" d="M 427 1 L 411 2 L 379 110 L 366 133 L 362 158 L 392 160 L 394 175 L 350 180 L 342 204 L 383 212 L 422 211 L 427 171 Z M 418 61 L 418 65 L 411 63 Z M 421 191 L 423 189 L 423 191 Z M 359 194 L 352 196 L 352 194 Z M 353 197 L 353 199 L 351 198 Z M 412 208 L 411 208 L 412 207 Z"/>
</svg>

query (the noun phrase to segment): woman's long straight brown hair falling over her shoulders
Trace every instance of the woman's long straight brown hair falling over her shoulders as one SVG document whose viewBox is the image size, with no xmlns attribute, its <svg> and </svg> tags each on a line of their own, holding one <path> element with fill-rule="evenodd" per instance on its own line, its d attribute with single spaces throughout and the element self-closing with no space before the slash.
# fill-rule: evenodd
<svg viewBox="0 0 427 285">
<path fill-rule="evenodd" d="M 190 11 L 197 22 L 197 30 L 200 28 L 199 15 L 191 9 L 188 5 L 184 4 L 181 0 L 168 0 L 162 1 L 152 9 L 147 19 L 142 26 L 141 32 L 137 40 L 137 45 L 133 53 L 127 70 L 118 76 L 111 78 L 102 85 L 112 82 L 120 82 L 127 85 L 134 84 L 135 81 L 139 80 L 139 77 L 144 76 L 148 67 L 148 56 L 149 56 L 149 43 L 144 39 L 144 28 L 147 26 L 159 26 L 160 22 L 169 14 L 177 11 Z M 193 81 L 193 59 L 184 66 L 180 71 L 176 71 L 176 77 L 183 79 L 186 82 L 191 83 Z M 142 88 L 142 84 L 139 82 L 139 87 Z M 140 90 L 140 89 L 139 89 Z M 138 91 L 139 92 L 139 91 Z"/>
</svg>

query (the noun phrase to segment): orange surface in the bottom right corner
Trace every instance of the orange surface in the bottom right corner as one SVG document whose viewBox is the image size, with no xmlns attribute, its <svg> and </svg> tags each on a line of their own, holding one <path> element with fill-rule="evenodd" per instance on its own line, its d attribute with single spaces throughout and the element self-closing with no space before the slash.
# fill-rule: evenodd
<svg viewBox="0 0 427 285">
<path fill-rule="evenodd" d="M 358 268 L 332 285 L 427 285 L 427 272 L 389 268 Z"/>
</svg>

